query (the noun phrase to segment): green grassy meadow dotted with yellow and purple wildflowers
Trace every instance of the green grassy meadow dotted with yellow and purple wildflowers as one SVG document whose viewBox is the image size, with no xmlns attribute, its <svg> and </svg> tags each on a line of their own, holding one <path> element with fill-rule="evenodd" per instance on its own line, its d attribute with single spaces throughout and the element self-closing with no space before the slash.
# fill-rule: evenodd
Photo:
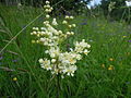
<svg viewBox="0 0 131 98">
<path fill-rule="evenodd" d="M 46 57 L 45 47 L 32 44 L 32 28 L 43 26 L 45 17 L 33 20 L 41 13 L 32 7 L 0 5 L 0 98 L 56 98 L 56 78 L 38 63 Z M 84 38 L 91 52 L 78 61 L 74 76 L 60 79 L 59 98 L 131 98 L 131 25 L 104 16 L 74 17 L 75 34 L 62 48 Z"/>
</svg>

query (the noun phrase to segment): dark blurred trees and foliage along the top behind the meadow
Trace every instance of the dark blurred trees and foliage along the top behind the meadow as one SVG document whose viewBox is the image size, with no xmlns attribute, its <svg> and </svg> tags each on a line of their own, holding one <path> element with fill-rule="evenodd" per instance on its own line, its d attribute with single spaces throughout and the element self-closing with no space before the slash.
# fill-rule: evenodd
<svg viewBox="0 0 131 98">
<path fill-rule="evenodd" d="M 5 5 L 27 5 L 35 8 L 43 8 L 46 0 L 0 0 L 1 3 Z M 51 4 L 56 4 L 60 2 L 60 0 L 49 0 Z M 90 15 L 100 15 L 104 14 L 105 17 L 109 20 L 121 21 L 124 20 L 130 22 L 130 7 L 126 7 L 126 0 L 102 0 L 100 4 L 92 7 L 92 9 L 87 8 L 87 4 L 93 0 L 63 0 L 60 4 L 53 10 L 55 14 L 81 14 L 86 12 Z M 114 3 L 114 4 L 112 4 Z"/>
</svg>

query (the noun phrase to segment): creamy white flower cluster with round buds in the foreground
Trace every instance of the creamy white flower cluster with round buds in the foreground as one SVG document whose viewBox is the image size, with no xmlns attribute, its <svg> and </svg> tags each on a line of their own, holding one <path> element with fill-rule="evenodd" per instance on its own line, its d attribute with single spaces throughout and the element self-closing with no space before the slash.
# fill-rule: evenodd
<svg viewBox="0 0 131 98">
<path fill-rule="evenodd" d="M 52 74 L 73 76 L 78 69 L 75 65 L 76 61 L 82 59 L 82 53 L 87 54 L 90 52 L 88 48 L 91 46 L 83 39 L 80 42 L 76 41 L 74 44 L 75 48 L 71 48 L 69 52 L 60 50 L 59 45 L 62 44 L 68 36 L 74 35 L 71 28 L 75 27 L 75 24 L 69 24 L 70 20 L 74 17 L 66 16 L 66 20 L 62 22 L 68 28 L 68 30 L 64 30 L 66 33 L 58 30 L 57 20 L 52 19 L 52 21 L 49 21 L 49 12 L 52 10 L 49 3 L 49 1 L 46 1 L 46 5 L 44 7 L 45 12 L 47 12 L 47 20 L 44 22 L 45 27 L 33 27 L 33 33 L 31 33 L 31 35 L 35 35 L 36 40 L 32 40 L 32 42 L 41 44 L 48 47 L 45 53 L 49 54 L 50 58 L 38 60 L 43 69 L 51 71 Z"/>
</svg>

